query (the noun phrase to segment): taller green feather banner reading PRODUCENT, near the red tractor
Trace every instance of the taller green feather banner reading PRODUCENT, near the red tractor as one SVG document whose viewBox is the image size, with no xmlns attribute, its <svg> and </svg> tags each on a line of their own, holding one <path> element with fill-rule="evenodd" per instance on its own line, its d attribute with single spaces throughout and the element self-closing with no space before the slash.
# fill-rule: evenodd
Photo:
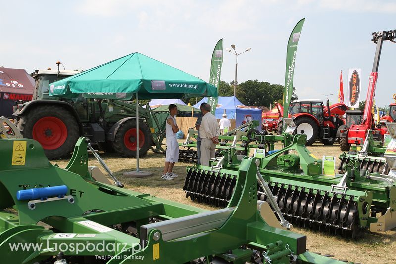
<svg viewBox="0 0 396 264">
<path fill-rule="evenodd" d="M 305 18 L 301 19 L 294 27 L 289 37 L 288 49 L 286 52 L 286 75 L 285 75 L 285 91 L 283 95 L 283 116 L 288 116 L 290 101 L 293 95 L 293 74 L 294 64 L 296 61 L 297 45 L 300 39 L 302 26 Z"/>
</svg>

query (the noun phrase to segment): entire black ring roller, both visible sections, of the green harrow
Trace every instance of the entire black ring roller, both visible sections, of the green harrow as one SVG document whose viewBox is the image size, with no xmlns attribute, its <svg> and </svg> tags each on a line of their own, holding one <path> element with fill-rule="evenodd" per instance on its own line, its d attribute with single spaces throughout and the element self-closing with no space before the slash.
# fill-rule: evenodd
<svg viewBox="0 0 396 264">
<path fill-rule="evenodd" d="M 226 207 L 231 199 L 236 176 L 216 171 L 188 168 L 183 190 L 192 201 Z M 257 183 L 258 184 L 258 183 Z M 355 238 L 358 224 L 354 196 L 270 182 L 272 194 L 286 220 L 293 225 L 324 231 L 332 235 Z M 257 200 L 266 200 L 258 184 Z"/>
</svg>

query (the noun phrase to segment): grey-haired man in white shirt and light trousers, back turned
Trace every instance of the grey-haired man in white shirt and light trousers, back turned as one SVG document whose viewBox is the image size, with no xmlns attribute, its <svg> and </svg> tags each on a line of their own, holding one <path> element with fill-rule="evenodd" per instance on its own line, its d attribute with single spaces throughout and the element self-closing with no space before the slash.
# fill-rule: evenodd
<svg viewBox="0 0 396 264">
<path fill-rule="evenodd" d="M 201 164 L 209 166 L 209 160 L 215 157 L 216 144 L 219 143 L 218 137 L 220 129 L 216 117 L 210 113 L 210 105 L 204 103 L 202 108 L 202 123 L 199 127 L 201 143 Z"/>
</svg>

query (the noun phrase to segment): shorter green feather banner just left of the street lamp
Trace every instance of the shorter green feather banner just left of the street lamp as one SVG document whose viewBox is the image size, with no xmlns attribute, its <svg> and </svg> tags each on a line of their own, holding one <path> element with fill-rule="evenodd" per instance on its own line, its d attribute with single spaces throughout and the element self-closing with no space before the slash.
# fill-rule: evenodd
<svg viewBox="0 0 396 264">
<path fill-rule="evenodd" d="M 212 63 L 210 65 L 210 78 L 209 83 L 217 87 L 219 90 L 220 84 L 220 73 L 221 73 L 221 65 L 223 64 L 223 39 L 219 40 L 214 47 L 212 54 Z M 212 114 L 214 115 L 216 111 L 216 106 L 219 98 L 218 97 L 209 97 L 207 99 L 207 103 L 212 108 Z"/>
</svg>

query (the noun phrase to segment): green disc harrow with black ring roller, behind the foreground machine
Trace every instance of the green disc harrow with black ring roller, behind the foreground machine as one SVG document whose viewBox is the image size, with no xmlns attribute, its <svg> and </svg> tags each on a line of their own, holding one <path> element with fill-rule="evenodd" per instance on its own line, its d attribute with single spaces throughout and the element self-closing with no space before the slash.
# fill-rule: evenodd
<svg viewBox="0 0 396 264">
<path fill-rule="evenodd" d="M 381 174 L 378 162 L 362 166 L 362 161 L 370 159 L 367 156 L 346 158 L 342 174 L 323 175 L 322 160 L 308 151 L 305 142 L 306 135 L 295 135 L 290 145 L 258 158 L 257 175 L 268 183 L 269 195 L 286 220 L 352 238 L 364 229 L 384 232 L 396 227 L 395 175 Z M 210 167 L 187 168 L 186 197 L 219 207 L 228 205 L 236 191 L 242 156 L 233 147 L 222 156 Z M 258 183 L 257 199 L 266 201 L 269 195 L 261 186 Z"/>
</svg>

